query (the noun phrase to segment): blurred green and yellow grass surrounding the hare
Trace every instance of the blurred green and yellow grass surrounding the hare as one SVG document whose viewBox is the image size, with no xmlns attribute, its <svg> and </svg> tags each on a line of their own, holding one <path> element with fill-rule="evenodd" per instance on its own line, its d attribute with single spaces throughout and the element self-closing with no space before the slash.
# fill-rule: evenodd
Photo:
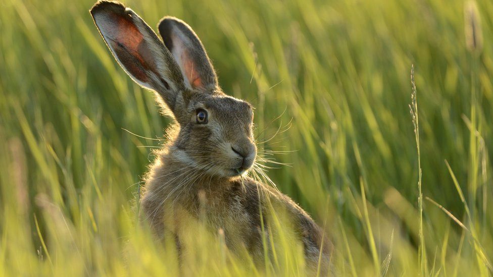
<svg viewBox="0 0 493 277">
<path fill-rule="evenodd" d="M 275 155 L 291 167 L 268 176 L 325 225 L 340 274 L 488 276 L 493 2 L 477 1 L 472 14 L 471 3 L 125 2 L 152 27 L 164 15 L 186 21 L 223 89 L 256 106 L 258 140 L 275 135 L 260 146 L 294 151 Z M 161 138 L 170 119 L 116 64 L 93 4 L 0 3 L 2 275 L 177 272 L 172 254 L 134 229 L 138 186 L 160 142 L 129 133 Z M 468 48 L 475 21 L 483 45 Z M 431 200 L 418 200 L 418 159 Z M 194 274 L 269 273 L 204 245 Z"/>
</svg>

